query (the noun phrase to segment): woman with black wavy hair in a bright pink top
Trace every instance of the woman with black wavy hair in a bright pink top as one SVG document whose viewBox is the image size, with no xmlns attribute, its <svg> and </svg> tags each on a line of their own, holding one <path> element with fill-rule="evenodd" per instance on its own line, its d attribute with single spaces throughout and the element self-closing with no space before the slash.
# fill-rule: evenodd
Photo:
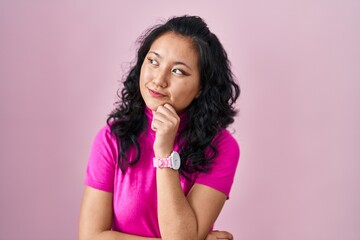
<svg viewBox="0 0 360 240">
<path fill-rule="evenodd" d="M 201 18 L 145 33 L 92 146 L 79 239 L 232 239 L 211 230 L 239 160 L 226 130 L 239 93 Z"/>
</svg>

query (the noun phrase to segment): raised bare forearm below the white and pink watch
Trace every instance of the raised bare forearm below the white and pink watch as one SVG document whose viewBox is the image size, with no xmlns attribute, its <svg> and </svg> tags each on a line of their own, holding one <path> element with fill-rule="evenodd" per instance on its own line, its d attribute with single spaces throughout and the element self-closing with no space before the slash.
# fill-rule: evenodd
<svg viewBox="0 0 360 240">
<path fill-rule="evenodd" d="M 158 168 L 156 180 L 162 239 L 197 239 L 196 216 L 182 191 L 178 171 Z"/>
</svg>

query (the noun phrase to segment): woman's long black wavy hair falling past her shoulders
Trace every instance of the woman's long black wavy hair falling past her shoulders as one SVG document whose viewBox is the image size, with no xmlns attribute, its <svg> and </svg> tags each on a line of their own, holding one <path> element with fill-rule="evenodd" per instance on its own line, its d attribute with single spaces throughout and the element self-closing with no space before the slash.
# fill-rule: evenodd
<svg viewBox="0 0 360 240">
<path fill-rule="evenodd" d="M 230 69 L 227 54 L 215 34 L 198 16 L 173 17 L 163 24 L 147 30 L 139 39 L 135 65 L 118 91 L 119 101 L 109 114 L 107 124 L 119 144 L 118 165 L 125 172 L 140 159 L 137 141 L 146 129 L 145 103 L 140 94 L 140 70 L 152 43 L 167 32 L 188 37 L 199 55 L 201 94 L 187 107 L 188 121 L 178 134 L 181 167 L 180 173 L 204 172 L 210 169 L 211 160 L 218 155 L 215 135 L 234 121 L 234 104 L 240 95 Z M 130 159 L 134 147 L 136 156 Z"/>
</svg>

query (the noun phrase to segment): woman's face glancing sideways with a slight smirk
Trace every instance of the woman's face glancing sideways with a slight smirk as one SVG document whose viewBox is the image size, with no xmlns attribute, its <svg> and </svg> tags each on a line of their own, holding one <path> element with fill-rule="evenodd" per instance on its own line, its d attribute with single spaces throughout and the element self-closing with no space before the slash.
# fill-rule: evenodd
<svg viewBox="0 0 360 240">
<path fill-rule="evenodd" d="M 199 96 L 198 54 L 189 38 L 167 32 L 153 42 L 141 66 L 140 91 L 153 111 L 168 103 L 179 113 Z"/>
</svg>

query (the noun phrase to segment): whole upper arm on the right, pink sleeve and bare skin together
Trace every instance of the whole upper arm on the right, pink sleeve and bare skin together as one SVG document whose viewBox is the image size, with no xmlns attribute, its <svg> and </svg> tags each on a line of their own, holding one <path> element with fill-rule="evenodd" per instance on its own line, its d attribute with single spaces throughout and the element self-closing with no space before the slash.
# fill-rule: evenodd
<svg viewBox="0 0 360 240">
<path fill-rule="evenodd" d="M 226 130 L 217 137 L 217 150 L 211 170 L 197 176 L 187 195 L 197 219 L 199 239 L 205 239 L 229 197 L 240 157 L 239 145 Z"/>
</svg>

